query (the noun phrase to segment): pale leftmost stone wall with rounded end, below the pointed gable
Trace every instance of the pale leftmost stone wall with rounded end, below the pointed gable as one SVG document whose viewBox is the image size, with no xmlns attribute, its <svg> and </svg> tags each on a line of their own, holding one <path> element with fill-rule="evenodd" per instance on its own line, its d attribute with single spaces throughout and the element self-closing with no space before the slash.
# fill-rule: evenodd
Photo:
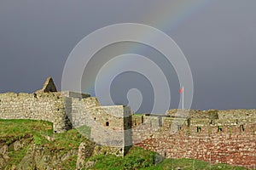
<svg viewBox="0 0 256 170">
<path fill-rule="evenodd" d="M 55 132 L 63 132 L 70 126 L 60 93 L 0 94 L 0 118 L 53 122 Z"/>
</svg>

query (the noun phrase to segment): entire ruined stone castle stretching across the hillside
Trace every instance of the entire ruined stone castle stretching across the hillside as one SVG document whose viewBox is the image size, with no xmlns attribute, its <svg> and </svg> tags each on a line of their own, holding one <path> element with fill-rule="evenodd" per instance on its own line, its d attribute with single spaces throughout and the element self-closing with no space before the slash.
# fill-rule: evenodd
<svg viewBox="0 0 256 170">
<path fill-rule="evenodd" d="M 53 122 L 54 133 L 77 128 L 118 156 L 133 144 L 168 158 L 256 167 L 256 110 L 175 113 L 135 115 L 128 106 L 102 106 L 90 94 L 57 92 L 51 78 L 34 94 L 0 94 L 0 119 Z"/>
</svg>

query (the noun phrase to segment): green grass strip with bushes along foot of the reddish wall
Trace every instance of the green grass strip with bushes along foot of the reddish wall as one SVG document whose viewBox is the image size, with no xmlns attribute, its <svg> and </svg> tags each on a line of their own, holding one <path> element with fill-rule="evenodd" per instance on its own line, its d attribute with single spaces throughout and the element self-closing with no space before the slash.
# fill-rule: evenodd
<svg viewBox="0 0 256 170">
<path fill-rule="evenodd" d="M 193 159 L 165 159 L 156 164 L 154 152 L 133 147 L 124 158 L 117 156 L 93 156 L 89 161 L 96 161 L 94 167 L 90 169 L 143 169 L 143 170 L 167 170 L 167 169 L 183 169 L 183 170 L 242 170 L 244 167 L 234 167 L 226 164 L 211 165 L 206 161 Z M 179 167 L 179 168 L 178 168 Z"/>
</svg>

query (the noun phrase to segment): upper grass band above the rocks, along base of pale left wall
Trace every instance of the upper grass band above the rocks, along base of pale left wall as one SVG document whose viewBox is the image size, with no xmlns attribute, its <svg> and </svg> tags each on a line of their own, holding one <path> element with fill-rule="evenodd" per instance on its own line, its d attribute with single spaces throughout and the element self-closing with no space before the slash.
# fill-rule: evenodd
<svg viewBox="0 0 256 170">
<path fill-rule="evenodd" d="M 49 148 L 56 150 L 70 150 L 78 148 L 82 141 L 88 141 L 76 129 L 53 134 L 52 123 L 44 121 L 0 119 L 0 129 L 0 139 L 6 140 L 6 144 L 10 144 L 16 139 L 22 139 L 26 135 L 31 135 L 34 144 L 46 144 Z M 49 141 L 45 136 L 55 140 Z"/>
</svg>

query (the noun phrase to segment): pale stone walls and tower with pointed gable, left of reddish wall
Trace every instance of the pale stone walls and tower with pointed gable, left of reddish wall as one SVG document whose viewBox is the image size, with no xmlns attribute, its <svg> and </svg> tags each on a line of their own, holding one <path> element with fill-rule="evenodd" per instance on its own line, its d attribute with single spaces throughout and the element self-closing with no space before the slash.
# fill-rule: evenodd
<svg viewBox="0 0 256 170">
<path fill-rule="evenodd" d="M 74 127 L 97 144 L 115 148 L 117 156 L 124 156 L 132 142 L 131 123 L 125 124 L 131 122 L 130 107 L 101 106 L 90 94 L 57 92 L 50 77 L 34 94 L 0 94 L 0 118 L 53 122 L 55 133 Z"/>
</svg>

